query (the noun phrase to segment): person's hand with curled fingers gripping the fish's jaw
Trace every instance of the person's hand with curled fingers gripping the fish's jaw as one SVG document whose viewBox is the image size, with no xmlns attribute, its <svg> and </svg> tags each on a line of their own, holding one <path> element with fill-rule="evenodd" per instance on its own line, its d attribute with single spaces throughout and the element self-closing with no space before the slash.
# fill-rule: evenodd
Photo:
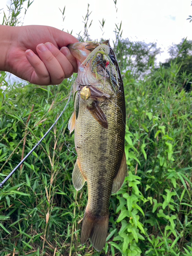
<svg viewBox="0 0 192 256">
<path fill-rule="evenodd" d="M 72 35 L 48 26 L 2 27 L 1 34 L 8 36 L 6 48 L 0 44 L 5 56 L 0 70 L 39 85 L 59 84 L 77 72 L 76 59 L 66 47 L 78 41 Z"/>
</svg>

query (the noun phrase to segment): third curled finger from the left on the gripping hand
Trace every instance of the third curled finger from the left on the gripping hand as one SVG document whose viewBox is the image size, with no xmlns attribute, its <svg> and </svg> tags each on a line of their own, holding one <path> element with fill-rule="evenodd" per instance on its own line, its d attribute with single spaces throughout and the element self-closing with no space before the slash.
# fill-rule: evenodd
<svg viewBox="0 0 192 256">
<path fill-rule="evenodd" d="M 73 72 L 74 72 L 74 68 L 72 66 L 72 64 L 70 63 L 70 61 L 68 60 L 68 58 L 63 55 L 57 47 L 55 47 L 51 42 L 46 42 L 46 47 L 49 49 L 49 51 L 53 54 L 53 56 L 57 59 L 59 65 L 61 66 L 63 73 L 65 74 L 65 78 L 70 77 Z M 51 70 L 49 70 L 49 73 L 51 72 Z M 51 73 L 50 73 L 51 75 Z M 54 75 L 54 72 L 53 72 Z M 52 75 L 51 75 L 51 79 L 52 79 Z"/>
</svg>

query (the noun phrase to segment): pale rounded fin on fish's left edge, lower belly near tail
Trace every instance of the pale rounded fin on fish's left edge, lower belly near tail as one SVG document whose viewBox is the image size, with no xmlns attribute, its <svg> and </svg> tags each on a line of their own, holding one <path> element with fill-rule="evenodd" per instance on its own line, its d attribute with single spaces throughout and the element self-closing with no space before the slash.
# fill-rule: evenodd
<svg viewBox="0 0 192 256">
<path fill-rule="evenodd" d="M 72 181 L 76 190 L 80 190 L 86 182 L 86 179 L 84 178 L 82 171 L 80 169 L 80 163 L 78 158 L 73 169 Z"/>
</svg>

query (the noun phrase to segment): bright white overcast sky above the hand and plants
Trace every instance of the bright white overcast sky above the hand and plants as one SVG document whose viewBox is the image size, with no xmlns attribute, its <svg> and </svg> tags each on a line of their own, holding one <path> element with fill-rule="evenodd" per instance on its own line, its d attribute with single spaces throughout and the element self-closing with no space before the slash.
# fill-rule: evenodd
<svg viewBox="0 0 192 256">
<path fill-rule="evenodd" d="M 1 0 L 0 9 L 7 10 L 6 4 L 10 0 Z M 113 0 L 34 0 L 27 11 L 24 25 L 48 25 L 64 29 L 77 36 L 83 31 L 83 18 L 86 16 L 88 3 L 90 4 L 89 29 L 92 39 L 115 37 L 115 23 L 122 20 L 122 37 L 131 40 L 157 42 L 158 47 L 165 51 L 159 60 L 168 57 L 166 50 L 172 43 L 179 43 L 183 37 L 192 39 L 192 23 L 188 15 L 192 15 L 191 0 L 117 0 L 117 12 Z M 27 3 L 26 3 L 27 4 Z M 63 10 L 66 6 L 65 20 L 62 21 Z M 1 11 L 2 12 L 2 11 Z M 99 20 L 106 20 L 103 32 L 99 27 Z M 0 14 L 2 22 L 3 14 Z"/>
</svg>

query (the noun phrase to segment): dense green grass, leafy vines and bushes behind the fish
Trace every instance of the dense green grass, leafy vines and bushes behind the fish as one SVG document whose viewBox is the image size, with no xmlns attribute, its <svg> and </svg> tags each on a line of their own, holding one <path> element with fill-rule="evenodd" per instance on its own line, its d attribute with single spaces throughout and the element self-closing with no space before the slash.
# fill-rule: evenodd
<svg viewBox="0 0 192 256">
<path fill-rule="evenodd" d="M 12 1 L 4 25 L 19 24 L 25 1 Z M 64 16 L 65 9 L 61 12 Z M 79 40 L 89 39 L 89 15 L 88 6 Z M 103 29 L 104 20 L 100 24 Z M 0 190 L 0 256 L 192 255 L 192 41 L 170 47 L 170 58 L 157 67 L 160 49 L 154 43 L 123 39 L 121 24 L 115 35 L 126 100 L 128 173 L 110 200 L 104 249 L 80 244 L 87 188 L 77 192 L 72 184 L 71 100 L 50 135 Z M 2 181 L 63 110 L 75 75 L 59 86 L 40 87 L 11 84 L 5 72 L 0 74 Z"/>
</svg>

